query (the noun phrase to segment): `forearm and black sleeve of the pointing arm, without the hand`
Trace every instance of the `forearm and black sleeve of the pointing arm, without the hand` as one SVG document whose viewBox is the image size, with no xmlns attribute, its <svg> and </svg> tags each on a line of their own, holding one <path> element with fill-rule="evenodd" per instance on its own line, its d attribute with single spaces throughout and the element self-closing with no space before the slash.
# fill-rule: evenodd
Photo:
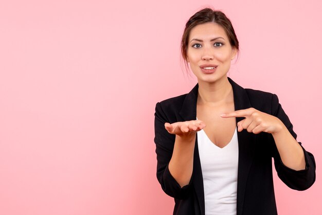
<svg viewBox="0 0 322 215">
<path fill-rule="evenodd" d="M 273 154 L 277 174 L 290 188 L 306 190 L 315 182 L 314 156 L 301 146 L 301 142 L 297 142 L 293 125 L 275 94 L 272 97 L 272 114 L 283 123 L 281 133 L 273 134 L 277 149 Z M 303 163 L 304 167 L 301 166 Z"/>
</svg>

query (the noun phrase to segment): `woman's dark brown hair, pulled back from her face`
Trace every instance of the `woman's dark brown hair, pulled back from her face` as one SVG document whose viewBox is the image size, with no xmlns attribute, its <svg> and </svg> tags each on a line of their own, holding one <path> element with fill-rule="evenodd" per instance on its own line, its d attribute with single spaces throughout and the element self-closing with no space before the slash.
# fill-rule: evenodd
<svg viewBox="0 0 322 215">
<path fill-rule="evenodd" d="M 237 51 L 239 51 L 239 43 L 237 40 L 237 36 L 235 34 L 235 30 L 232 27 L 232 24 L 231 24 L 230 20 L 227 18 L 227 16 L 219 10 L 212 10 L 211 8 L 204 8 L 204 9 L 196 12 L 193 16 L 190 17 L 190 19 L 186 23 L 186 27 L 185 27 L 185 30 L 182 35 L 181 55 L 186 63 L 186 68 L 188 67 L 187 46 L 188 46 L 190 31 L 196 25 L 209 23 L 209 22 L 217 23 L 220 26 L 222 26 L 228 36 L 230 45 L 235 46 Z"/>
</svg>

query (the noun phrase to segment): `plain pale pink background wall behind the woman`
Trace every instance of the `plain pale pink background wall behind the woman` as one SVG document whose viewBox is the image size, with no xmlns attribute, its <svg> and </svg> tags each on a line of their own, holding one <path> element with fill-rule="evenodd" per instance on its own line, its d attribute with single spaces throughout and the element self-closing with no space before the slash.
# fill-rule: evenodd
<svg viewBox="0 0 322 215">
<path fill-rule="evenodd" d="M 156 180 L 155 103 L 196 83 L 180 61 L 187 19 L 227 14 L 229 76 L 279 96 L 317 181 L 275 174 L 279 214 L 322 214 L 320 1 L 2 1 L 0 214 L 172 214 Z"/>
</svg>

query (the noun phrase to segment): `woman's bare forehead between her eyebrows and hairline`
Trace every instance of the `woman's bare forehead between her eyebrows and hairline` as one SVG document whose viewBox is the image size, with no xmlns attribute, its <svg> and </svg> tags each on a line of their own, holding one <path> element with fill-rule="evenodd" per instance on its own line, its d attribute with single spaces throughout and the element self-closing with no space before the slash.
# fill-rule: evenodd
<svg viewBox="0 0 322 215">
<path fill-rule="evenodd" d="M 228 40 L 226 31 L 221 25 L 217 23 L 203 23 L 191 29 L 189 42 L 191 39 L 211 40 L 217 37 L 223 37 Z"/>
</svg>

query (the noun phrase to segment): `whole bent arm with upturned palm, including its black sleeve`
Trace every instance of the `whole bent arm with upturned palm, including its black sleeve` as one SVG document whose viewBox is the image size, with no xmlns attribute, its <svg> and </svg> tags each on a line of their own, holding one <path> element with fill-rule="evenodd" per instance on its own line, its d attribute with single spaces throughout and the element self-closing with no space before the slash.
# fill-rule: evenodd
<svg viewBox="0 0 322 215">
<path fill-rule="evenodd" d="M 178 122 L 170 124 L 168 121 L 161 104 L 157 103 L 154 120 L 156 175 L 165 193 L 177 199 L 184 199 L 191 190 L 195 133 L 199 128 L 178 127 Z M 188 131 L 183 135 L 181 129 Z"/>
</svg>

